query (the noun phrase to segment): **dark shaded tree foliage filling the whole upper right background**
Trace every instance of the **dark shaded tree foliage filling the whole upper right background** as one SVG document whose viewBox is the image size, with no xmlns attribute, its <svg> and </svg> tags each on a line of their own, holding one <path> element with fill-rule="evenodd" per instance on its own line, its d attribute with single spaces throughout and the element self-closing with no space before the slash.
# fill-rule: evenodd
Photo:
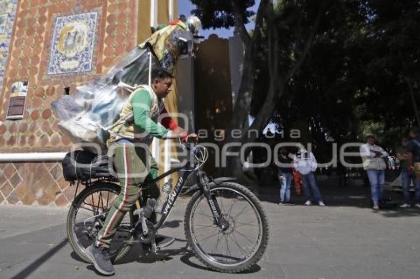
<svg viewBox="0 0 420 279">
<path fill-rule="evenodd" d="M 244 76 L 232 129 L 246 131 L 250 113 L 260 131 L 271 119 L 286 131 L 303 122 L 320 146 L 375 132 L 392 149 L 420 124 L 419 1 L 261 0 L 251 37 L 244 24 L 253 1 L 192 2 L 205 28 L 242 30 Z"/>
</svg>

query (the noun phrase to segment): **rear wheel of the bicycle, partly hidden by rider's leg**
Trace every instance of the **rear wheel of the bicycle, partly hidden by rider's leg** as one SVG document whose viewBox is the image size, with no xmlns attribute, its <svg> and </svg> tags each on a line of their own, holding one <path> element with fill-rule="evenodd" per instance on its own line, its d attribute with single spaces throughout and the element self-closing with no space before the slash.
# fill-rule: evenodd
<svg viewBox="0 0 420 279">
<path fill-rule="evenodd" d="M 98 182 L 86 187 L 73 201 L 67 214 L 67 236 L 77 256 L 90 263 L 84 250 L 95 240 L 102 229 L 106 214 L 118 198 L 120 187 L 113 183 Z M 135 220 L 132 211 L 127 212 L 111 243 L 113 261 L 123 258 L 131 248 L 134 235 L 130 229 Z"/>
</svg>

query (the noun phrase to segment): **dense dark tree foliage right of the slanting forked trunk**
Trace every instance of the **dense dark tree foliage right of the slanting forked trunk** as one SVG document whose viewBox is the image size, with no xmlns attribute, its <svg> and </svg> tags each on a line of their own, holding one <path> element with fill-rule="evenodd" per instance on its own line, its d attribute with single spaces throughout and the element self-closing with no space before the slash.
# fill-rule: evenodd
<svg viewBox="0 0 420 279">
<path fill-rule="evenodd" d="M 279 121 L 288 126 L 293 114 L 312 123 L 313 134 L 327 132 L 339 143 L 376 132 L 392 149 L 419 123 L 419 3 L 342 1 L 328 12 L 323 35 L 276 108 Z"/>
</svg>

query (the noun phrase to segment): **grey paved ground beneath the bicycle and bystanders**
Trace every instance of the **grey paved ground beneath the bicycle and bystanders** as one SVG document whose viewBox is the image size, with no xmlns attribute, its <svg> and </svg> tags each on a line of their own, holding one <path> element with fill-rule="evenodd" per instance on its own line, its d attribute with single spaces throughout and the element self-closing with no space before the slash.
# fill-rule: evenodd
<svg viewBox="0 0 420 279">
<path fill-rule="evenodd" d="M 135 246 L 116 265 L 113 278 L 419 278 L 420 210 L 373 212 L 368 188 L 319 182 L 325 208 L 278 206 L 275 187 L 258 191 L 269 216 L 270 241 L 264 257 L 248 273 L 212 272 L 195 259 L 183 235 L 187 200 L 181 199 L 161 231 L 177 241 L 159 256 L 145 255 Z M 0 279 L 99 278 L 91 265 L 72 253 L 64 225 L 67 209 L 1 206 L 0 212 Z"/>
</svg>

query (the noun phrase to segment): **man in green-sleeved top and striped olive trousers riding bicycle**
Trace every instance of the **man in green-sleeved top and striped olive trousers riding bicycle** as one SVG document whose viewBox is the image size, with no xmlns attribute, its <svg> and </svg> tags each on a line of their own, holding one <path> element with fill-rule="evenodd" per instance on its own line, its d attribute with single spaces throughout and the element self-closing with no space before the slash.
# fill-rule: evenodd
<svg viewBox="0 0 420 279">
<path fill-rule="evenodd" d="M 173 76 L 167 70 L 153 70 L 151 87 L 142 86 L 131 93 L 120 113 L 120 119 L 127 120 L 113 129 L 108 141 L 110 150 L 113 150 L 121 191 L 111 206 L 96 241 L 86 248 L 86 255 L 103 275 L 114 274 L 109 251 L 111 241 L 126 212 L 138 200 L 140 184 L 158 176 L 157 163 L 148 150 L 153 137 L 182 140 L 188 137 L 197 138 L 196 134 L 187 135 L 169 116 L 162 118 L 162 124 L 157 122 L 161 114 L 168 113 L 163 98 L 170 92 L 172 79 Z M 148 189 L 148 193 L 151 198 L 158 198 L 160 195 L 157 187 Z M 163 241 L 171 243 L 173 239 Z"/>
</svg>

